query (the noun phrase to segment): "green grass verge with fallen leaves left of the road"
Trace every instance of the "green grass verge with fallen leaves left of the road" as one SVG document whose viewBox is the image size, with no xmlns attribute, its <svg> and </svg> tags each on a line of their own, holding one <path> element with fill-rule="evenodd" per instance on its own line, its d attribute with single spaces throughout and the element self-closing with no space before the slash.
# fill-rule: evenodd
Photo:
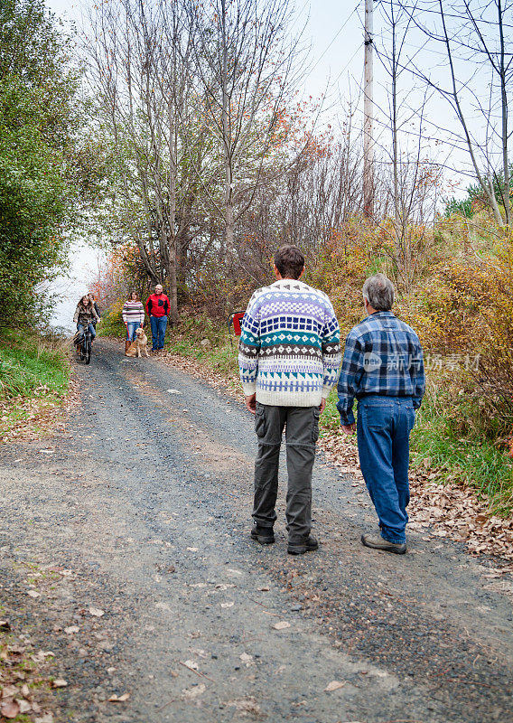
<svg viewBox="0 0 513 723">
<path fill-rule="evenodd" d="M 6 330 L 0 342 L 0 437 L 59 406 L 70 382 L 68 343 L 32 330 Z"/>
</svg>

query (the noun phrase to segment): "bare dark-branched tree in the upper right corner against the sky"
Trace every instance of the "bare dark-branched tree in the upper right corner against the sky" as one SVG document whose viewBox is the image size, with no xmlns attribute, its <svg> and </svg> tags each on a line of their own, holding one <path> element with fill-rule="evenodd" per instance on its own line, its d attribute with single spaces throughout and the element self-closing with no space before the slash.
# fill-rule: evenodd
<svg viewBox="0 0 513 723">
<path fill-rule="evenodd" d="M 408 0 L 398 3 L 430 45 L 443 50 L 443 72 L 426 71 L 411 56 L 403 67 L 447 100 L 460 134 L 438 126 L 455 148 L 464 146 L 473 174 L 502 226 L 511 221 L 508 102 L 513 81 L 508 0 Z M 480 128 L 484 132 L 480 134 Z M 499 188 L 499 199 L 496 195 Z M 504 217 L 499 209 L 504 209 Z"/>
</svg>

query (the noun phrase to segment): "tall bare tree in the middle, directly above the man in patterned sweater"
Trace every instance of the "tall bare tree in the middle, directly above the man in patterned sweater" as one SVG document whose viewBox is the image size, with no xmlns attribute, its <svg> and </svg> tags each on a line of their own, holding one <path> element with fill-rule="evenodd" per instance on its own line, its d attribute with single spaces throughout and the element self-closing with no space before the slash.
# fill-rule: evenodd
<svg viewBox="0 0 513 723">
<path fill-rule="evenodd" d="M 236 223 L 285 132 L 280 117 L 299 77 L 298 42 L 288 34 L 292 8 L 289 0 L 190 0 L 187 12 L 204 123 L 224 175 L 222 199 L 210 192 L 210 202 L 223 219 L 224 243 L 233 249 Z"/>
</svg>

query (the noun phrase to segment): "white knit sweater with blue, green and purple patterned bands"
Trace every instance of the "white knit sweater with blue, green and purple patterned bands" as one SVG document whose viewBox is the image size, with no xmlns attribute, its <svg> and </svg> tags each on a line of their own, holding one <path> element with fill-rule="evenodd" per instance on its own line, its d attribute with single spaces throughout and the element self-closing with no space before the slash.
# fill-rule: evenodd
<svg viewBox="0 0 513 723">
<path fill-rule="evenodd" d="M 238 346 L 246 396 L 277 407 L 317 407 L 337 381 L 340 329 L 331 301 L 302 281 L 284 278 L 257 289 Z"/>
</svg>

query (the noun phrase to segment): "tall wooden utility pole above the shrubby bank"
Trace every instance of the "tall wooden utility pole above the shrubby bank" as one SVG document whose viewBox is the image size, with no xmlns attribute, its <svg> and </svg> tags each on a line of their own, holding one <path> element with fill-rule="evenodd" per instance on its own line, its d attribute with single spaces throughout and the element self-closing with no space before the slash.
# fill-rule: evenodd
<svg viewBox="0 0 513 723">
<path fill-rule="evenodd" d="M 374 146 L 373 127 L 373 11 L 374 0 L 365 0 L 365 58 L 363 65 L 363 212 L 374 216 Z"/>
</svg>

